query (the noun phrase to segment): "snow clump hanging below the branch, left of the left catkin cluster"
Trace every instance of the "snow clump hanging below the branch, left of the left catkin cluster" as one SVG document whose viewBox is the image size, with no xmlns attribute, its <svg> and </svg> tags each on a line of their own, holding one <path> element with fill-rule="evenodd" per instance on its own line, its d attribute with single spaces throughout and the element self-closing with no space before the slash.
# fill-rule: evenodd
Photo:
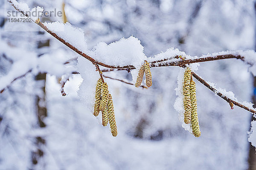
<svg viewBox="0 0 256 170">
<path fill-rule="evenodd" d="M 93 113 L 93 105 L 95 102 L 95 89 L 96 83 L 99 79 L 99 72 L 96 71 L 95 65 L 84 57 L 78 57 L 78 71 L 83 79 L 78 95 L 81 101 L 87 106 L 87 108 Z"/>
</svg>

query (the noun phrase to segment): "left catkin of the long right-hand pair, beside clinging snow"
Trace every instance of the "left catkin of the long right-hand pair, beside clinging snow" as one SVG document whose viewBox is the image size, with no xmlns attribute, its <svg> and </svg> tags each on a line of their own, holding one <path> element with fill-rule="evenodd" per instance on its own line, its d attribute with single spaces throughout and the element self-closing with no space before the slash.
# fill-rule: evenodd
<svg viewBox="0 0 256 170">
<path fill-rule="evenodd" d="M 184 82 L 183 82 L 183 104 L 184 104 L 184 122 L 189 124 L 191 122 L 191 100 L 190 100 L 190 79 L 191 79 L 191 70 L 190 68 L 186 68 L 184 73 Z"/>
</svg>

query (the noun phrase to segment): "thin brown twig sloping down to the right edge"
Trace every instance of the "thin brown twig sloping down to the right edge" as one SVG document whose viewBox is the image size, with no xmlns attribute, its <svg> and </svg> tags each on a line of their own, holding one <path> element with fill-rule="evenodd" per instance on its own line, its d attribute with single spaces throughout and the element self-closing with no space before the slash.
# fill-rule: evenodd
<svg viewBox="0 0 256 170">
<path fill-rule="evenodd" d="M 205 85 L 207 88 L 209 88 L 211 91 L 213 91 L 215 94 L 217 94 L 218 96 L 220 96 L 222 99 L 226 100 L 228 103 L 232 102 L 234 105 L 243 108 L 247 111 L 250 111 L 251 113 L 256 113 L 255 110 L 252 110 L 250 108 L 247 108 L 246 106 L 240 104 L 239 102 L 236 102 L 230 98 L 228 98 L 227 96 L 224 96 L 223 94 L 221 94 L 220 92 L 218 92 L 215 88 L 213 88 L 212 86 L 210 86 L 204 79 L 202 79 L 201 77 L 199 77 L 197 74 L 195 74 L 194 72 L 191 72 L 192 76 L 195 77 L 199 82 L 201 82 L 203 85 Z"/>
</svg>

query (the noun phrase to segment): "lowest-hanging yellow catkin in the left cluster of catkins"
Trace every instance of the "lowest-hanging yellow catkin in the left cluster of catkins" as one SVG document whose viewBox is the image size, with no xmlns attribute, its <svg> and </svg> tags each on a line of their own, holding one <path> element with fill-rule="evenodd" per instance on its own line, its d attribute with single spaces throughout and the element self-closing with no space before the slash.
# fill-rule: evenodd
<svg viewBox="0 0 256 170">
<path fill-rule="evenodd" d="M 108 120 L 111 128 L 111 133 L 113 136 L 117 136 L 117 127 L 116 127 L 116 119 L 114 113 L 114 106 L 111 94 L 109 94 L 108 100 Z"/>
</svg>

